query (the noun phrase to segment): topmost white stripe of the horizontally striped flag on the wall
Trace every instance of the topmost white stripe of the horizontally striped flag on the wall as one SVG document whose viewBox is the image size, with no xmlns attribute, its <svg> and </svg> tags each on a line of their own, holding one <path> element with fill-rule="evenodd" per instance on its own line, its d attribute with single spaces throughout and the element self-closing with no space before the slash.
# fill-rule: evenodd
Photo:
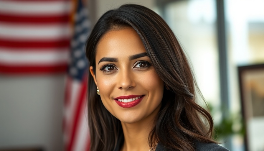
<svg viewBox="0 0 264 151">
<path fill-rule="evenodd" d="M 0 11 L 18 15 L 49 15 L 70 12 L 71 1 L 0 1 Z"/>
</svg>

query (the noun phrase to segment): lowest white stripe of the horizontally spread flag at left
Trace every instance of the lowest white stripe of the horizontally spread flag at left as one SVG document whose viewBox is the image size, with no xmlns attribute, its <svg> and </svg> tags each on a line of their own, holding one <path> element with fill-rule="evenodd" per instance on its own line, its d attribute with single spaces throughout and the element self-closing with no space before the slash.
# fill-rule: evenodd
<svg viewBox="0 0 264 151">
<path fill-rule="evenodd" d="M 50 65 L 67 63 L 69 51 L 8 51 L 0 49 L 0 62 L 9 65 Z"/>
</svg>

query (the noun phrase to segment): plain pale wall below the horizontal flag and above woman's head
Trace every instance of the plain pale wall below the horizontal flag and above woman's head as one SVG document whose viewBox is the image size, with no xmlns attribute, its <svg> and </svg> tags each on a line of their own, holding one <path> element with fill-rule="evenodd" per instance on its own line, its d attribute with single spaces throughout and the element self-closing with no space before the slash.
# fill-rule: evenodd
<svg viewBox="0 0 264 151">
<path fill-rule="evenodd" d="M 93 23 L 108 9 L 124 3 L 154 7 L 154 0 L 89 1 Z M 0 149 L 40 146 L 47 151 L 63 150 L 64 78 L 0 75 Z"/>
</svg>

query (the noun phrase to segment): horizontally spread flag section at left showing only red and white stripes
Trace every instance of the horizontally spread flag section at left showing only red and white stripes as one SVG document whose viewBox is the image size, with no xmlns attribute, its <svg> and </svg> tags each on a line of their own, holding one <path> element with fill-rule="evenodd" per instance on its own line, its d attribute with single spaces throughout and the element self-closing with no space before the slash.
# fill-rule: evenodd
<svg viewBox="0 0 264 151">
<path fill-rule="evenodd" d="M 70 0 L 0 0 L 0 73 L 63 73 Z"/>
</svg>

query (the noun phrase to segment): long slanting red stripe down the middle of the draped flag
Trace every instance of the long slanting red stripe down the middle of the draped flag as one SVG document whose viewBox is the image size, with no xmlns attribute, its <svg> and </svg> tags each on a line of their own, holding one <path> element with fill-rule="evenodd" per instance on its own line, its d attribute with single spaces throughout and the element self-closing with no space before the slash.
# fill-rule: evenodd
<svg viewBox="0 0 264 151">
<path fill-rule="evenodd" d="M 82 114 L 82 107 L 83 107 L 83 103 L 85 102 L 85 94 L 86 94 L 86 90 L 87 90 L 87 83 L 85 81 L 82 82 L 82 88 L 81 88 L 81 91 L 80 91 L 80 94 L 79 94 L 79 98 L 77 99 L 77 106 L 76 106 L 76 109 L 75 109 L 75 116 L 74 116 L 74 119 L 73 119 L 73 127 L 72 127 L 72 133 L 71 133 L 71 136 L 70 136 L 70 142 L 67 146 L 67 151 L 72 151 L 72 147 L 73 147 L 73 143 L 75 141 L 75 135 L 76 135 L 76 132 L 77 132 L 77 127 L 78 125 L 80 124 L 80 118 L 81 118 L 81 114 Z"/>
</svg>

